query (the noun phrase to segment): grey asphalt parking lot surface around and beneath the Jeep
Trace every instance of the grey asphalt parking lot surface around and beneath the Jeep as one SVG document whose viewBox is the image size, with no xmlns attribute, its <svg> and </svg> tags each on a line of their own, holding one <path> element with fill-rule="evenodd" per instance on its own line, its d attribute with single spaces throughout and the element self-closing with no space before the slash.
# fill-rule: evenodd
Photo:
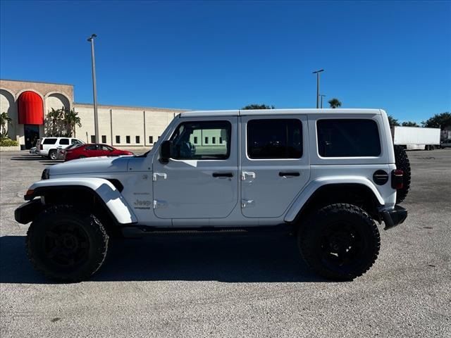
<svg viewBox="0 0 451 338">
<path fill-rule="evenodd" d="M 55 284 L 13 220 L 53 162 L 0 153 L 0 336 L 451 337 L 451 149 L 411 151 L 406 222 L 354 282 L 311 273 L 290 237 L 116 242 L 92 280 Z"/>
</svg>

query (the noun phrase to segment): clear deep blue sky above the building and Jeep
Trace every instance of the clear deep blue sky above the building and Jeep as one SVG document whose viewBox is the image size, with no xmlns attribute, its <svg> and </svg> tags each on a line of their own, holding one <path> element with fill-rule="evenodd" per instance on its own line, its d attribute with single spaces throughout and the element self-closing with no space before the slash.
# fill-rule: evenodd
<svg viewBox="0 0 451 338">
<path fill-rule="evenodd" d="M 190 109 L 451 110 L 450 1 L 2 0 L 0 75 L 75 85 L 100 104 Z"/>
</svg>

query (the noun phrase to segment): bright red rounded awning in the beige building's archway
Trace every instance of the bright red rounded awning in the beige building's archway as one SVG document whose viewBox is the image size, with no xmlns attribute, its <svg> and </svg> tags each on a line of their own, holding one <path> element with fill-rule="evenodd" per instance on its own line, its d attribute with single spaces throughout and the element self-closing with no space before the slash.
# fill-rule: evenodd
<svg viewBox="0 0 451 338">
<path fill-rule="evenodd" d="M 43 125 L 44 107 L 39 94 L 23 92 L 18 99 L 18 115 L 20 125 Z"/>
</svg>

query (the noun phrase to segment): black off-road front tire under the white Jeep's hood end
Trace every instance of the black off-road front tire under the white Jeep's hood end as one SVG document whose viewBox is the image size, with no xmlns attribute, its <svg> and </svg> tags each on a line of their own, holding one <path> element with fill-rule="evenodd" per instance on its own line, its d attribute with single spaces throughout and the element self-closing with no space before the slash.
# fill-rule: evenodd
<svg viewBox="0 0 451 338">
<path fill-rule="evenodd" d="M 63 232 L 63 234 L 59 232 L 61 235 L 56 237 L 57 230 L 64 227 L 68 227 L 69 230 Z M 66 237 L 61 239 L 63 235 Z M 51 244 L 61 246 L 61 243 L 65 242 L 70 236 L 79 236 L 84 239 L 84 242 L 81 240 L 73 241 L 78 243 L 78 246 L 75 246 L 75 244 L 73 246 L 79 248 L 78 251 L 82 251 L 82 254 L 74 253 L 71 256 L 70 254 L 67 255 L 67 252 L 53 253 L 56 249 L 59 252 L 68 251 L 67 248 L 61 249 L 60 247 L 53 248 L 54 251 L 50 253 L 46 252 L 49 247 L 52 247 Z M 43 211 L 32 222 L 25 242 L 27 256 L 35 270 L 43 273 L 51 280 L 80 282 L 87 280 L 104 263 L 108 251 L 109 236 L 104 226 L 94 215 L 82 213 L 71 206 L 54 206 Z M 59 244 L 56 245 L 55 243 Z M 70 247 L 69 250 L 71 250 Z M 74 263 L 73 265 L 63 266 L 61 262 L 57 261 L 57 258 L 69 262 L 72 259 Z M 75 262 L 75 259 L 80 261 Z"/>
</svg>

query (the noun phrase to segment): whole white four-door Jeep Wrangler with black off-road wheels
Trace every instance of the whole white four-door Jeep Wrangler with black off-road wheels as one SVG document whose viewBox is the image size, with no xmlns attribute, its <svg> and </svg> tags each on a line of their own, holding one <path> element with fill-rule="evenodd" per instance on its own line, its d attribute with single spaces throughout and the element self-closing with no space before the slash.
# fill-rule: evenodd
<svg viewBox="0 0 451 338">
<path fill-rule="evenodd" d="M 375 221 L 407 217 L 409 184 L 385 111 L 193 111 L 142 156 L 46 168 L 15 216 L 32 222 L 27 254 L 55 280 L 95 273 L 112 236 L 270 227 L 295 234 L 319 275 L 352 280 L 378 256 Z"/>
</svg>

